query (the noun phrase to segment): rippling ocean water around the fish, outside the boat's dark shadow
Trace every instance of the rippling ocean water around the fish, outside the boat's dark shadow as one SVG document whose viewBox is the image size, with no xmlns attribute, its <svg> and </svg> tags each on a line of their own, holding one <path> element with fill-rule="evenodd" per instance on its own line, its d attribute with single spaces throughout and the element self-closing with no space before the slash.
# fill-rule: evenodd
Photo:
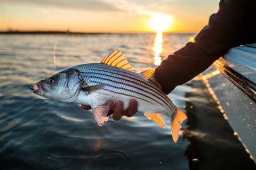
<svg viewBox="0 0 256 170">
<path fill-rule="evenodd" d="M 154 34 L 0 35 L 0 169 L 188 169 L 190 141 L 180 135 L 173 143 L 167 119 L 165 129 L 140 113 L 99 127 L 91 111 L 41 98 L 30 86 L 66 67 L 97 63 L 114 49 L 143 71 L 191 36 L 166 34 L 161 46 Z M 191 90 L 186 83 L 169 97 L 185 112 L 194 100 L 218 112 L 213 100 L 189 97 Z"/>
</svg>

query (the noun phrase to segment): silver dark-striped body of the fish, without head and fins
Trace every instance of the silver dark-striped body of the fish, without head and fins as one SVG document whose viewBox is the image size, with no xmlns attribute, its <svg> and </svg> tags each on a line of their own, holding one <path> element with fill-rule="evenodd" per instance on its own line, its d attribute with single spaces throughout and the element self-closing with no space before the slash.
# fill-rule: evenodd
<svg viewBox="0 0 256 170">
<path fill-rule="evenodd" d="M 124 102 L 124 109 L 127 109 L 130 99 L 136 99 L 139 112 L 175 113 L 175 106 L 170 98 L 140 73 L 101 63 L 83 64 L 73 68 L 81 73 L 87 86 L 105 84 L 102 89 L 89 94 L 79 92 L 74 103 L 95 107 L 107 100 L 121 100 Z"/>
</svg>

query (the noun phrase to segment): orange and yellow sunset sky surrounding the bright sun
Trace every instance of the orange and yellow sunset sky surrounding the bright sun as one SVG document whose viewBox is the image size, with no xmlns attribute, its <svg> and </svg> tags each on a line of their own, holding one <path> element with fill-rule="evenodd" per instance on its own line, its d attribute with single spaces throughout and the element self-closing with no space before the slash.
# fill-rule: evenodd
<svg viewBox="0 0 256 170">
<path fill-rule="evenodd" d="M 1 1 L 0 30 L 152 32 L 156 13 L 171 16 L 167 32 L 198 32 L 219 1 Z"/>
</svg>

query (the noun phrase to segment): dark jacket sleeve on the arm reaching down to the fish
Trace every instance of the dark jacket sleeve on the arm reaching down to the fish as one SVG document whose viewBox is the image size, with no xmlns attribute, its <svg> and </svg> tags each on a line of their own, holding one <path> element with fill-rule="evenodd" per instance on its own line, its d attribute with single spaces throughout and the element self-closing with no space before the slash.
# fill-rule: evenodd
<svg viewBox="0 0 256 170">
<path fill-rule="evenodd" d="M 195 43 L 169 55 L 156 67 L 155 79 L 169 94 L 203 72 L 228 49 L 256 43 L 256 1 L 222 0 L 219 10 L 198 33 Z"/>
</svg>

